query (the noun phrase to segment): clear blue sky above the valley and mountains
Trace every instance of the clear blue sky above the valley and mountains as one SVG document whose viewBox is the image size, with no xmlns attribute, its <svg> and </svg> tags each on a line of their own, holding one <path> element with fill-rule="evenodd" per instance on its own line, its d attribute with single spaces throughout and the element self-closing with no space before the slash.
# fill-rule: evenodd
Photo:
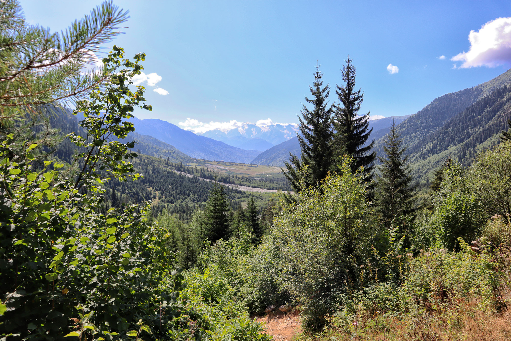
<svg viewBox="0 0 511 341">
<path fill-rule="evenodd" d="M 100 3 L 21 0 L 29 23 L 54 31 Z M 114 3 L 130 18 L 126 34 L 111 45 L 129 56 L 145 52 L 145 73 L 161 77 L 154 83 L 159 77 L 153 75 L 154 86 L 146 87 L 153 112 L 136 115 L 175 124 L 187 118 L 297 122 L 316 62 L 324 83 L 334 87 L 348 55 L 365 93 L 362 111 L 381 116 L 413 114 L 511 67 L 511 45 L 500 57 L 477 55 L 474 47 L 472 59 L 450 60 L 471 49 L 471 30 L 479 43 L 489 39 L 476 35 L 485 23 L 511 17 L 509 1 Z M 391 74 L 389 64 L 399 72 Z"/>
</svg>

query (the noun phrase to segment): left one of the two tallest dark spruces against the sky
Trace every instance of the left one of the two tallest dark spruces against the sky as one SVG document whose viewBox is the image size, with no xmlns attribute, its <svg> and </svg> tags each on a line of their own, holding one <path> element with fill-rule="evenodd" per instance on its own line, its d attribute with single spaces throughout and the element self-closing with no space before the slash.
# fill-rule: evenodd
<svg viewBox="0 0 511 341">
<path fill-rule="evenodd" d="M 309 110 L 303 104 L 302 117 L 298 117 L 300 135 L 297 137 L 301 159 L 290 153 L 290 160 L 285 163 L 287 172 L 282 169 L 295 191 L 300 189 L 300 180 L 305 182 L 306 187 L 317 185 L 327 177 L 331 168 L 333 105 L 327 103 L 330 88 L 328 85 L 323 87 L 322 76 L 319 66 L 316 66 L 313 86 L 309 86 L 312 99 L 305 98 L 307 103 L 313 104 L 313 108 Z M 307 175 L 301 172 L 304 166 L 307 166 Z"/>
</svg>

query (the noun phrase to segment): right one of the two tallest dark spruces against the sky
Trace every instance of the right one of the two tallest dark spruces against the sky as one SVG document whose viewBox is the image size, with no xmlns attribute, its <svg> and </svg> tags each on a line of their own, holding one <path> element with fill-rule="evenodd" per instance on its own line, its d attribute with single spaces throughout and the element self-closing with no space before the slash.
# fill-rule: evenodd
<svg viewBox="0 0 511 341">
<path fill-rule="evenodd" d="M 369 113 L 357 117 L 360 106 L 364 100 L 361 89 L 355 91 L 356 69 L 352 59 L 346 59 L 346 65 L 342 68 L 342 80 L 344 86 L 336 86 L 335 92 L 339 98 L 339 104 L 335 105 L 333 119 L 333 153 L 334 164 L 332 169 L 338 170 L 342 155 L 353 157 L 352 171 L 364 167 L 364 173 L 372 177 L 376 152 L 370 153 L 374 141 L 366 144 L 373 129 L 369 130 Z"/>
</svg>

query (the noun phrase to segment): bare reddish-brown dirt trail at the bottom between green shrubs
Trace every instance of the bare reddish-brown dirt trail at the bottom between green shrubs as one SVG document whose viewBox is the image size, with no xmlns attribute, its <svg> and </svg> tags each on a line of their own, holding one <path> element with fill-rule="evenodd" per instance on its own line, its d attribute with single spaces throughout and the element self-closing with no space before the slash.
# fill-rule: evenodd
<svg viewBox="0 0 511 341">
<path fill-rule="evenodd" d="M 290 341 L 293 336 L 302 332 L 301 322 L 297 312 L 269 313 L 266 316 L 256 316 L 255 321 L 266 322 L 266 332 L 275 341 Z"/>
</svg>

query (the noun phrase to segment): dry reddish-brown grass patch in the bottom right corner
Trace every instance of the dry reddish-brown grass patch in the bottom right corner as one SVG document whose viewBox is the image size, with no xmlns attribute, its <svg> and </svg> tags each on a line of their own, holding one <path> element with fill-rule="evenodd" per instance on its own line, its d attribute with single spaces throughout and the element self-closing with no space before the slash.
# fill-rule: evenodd
<svg viewBox="0 0 511 341">
<path fill-rule="evenodd" d="M 511 340 L 511 250 L 496 252 L 500 287 L 495 304 L 487 307 L 477 298 L 442 300 L 432 297 L 420 310 L 360 317 L 349 330 L 331 324 L 315 335 L 301 334 L 297 341 L 503 341 Z M 361 314 L 362 316 L 363 314 Z M 346 327 L 344 327 L 346 328 Z"/>
</svg>

